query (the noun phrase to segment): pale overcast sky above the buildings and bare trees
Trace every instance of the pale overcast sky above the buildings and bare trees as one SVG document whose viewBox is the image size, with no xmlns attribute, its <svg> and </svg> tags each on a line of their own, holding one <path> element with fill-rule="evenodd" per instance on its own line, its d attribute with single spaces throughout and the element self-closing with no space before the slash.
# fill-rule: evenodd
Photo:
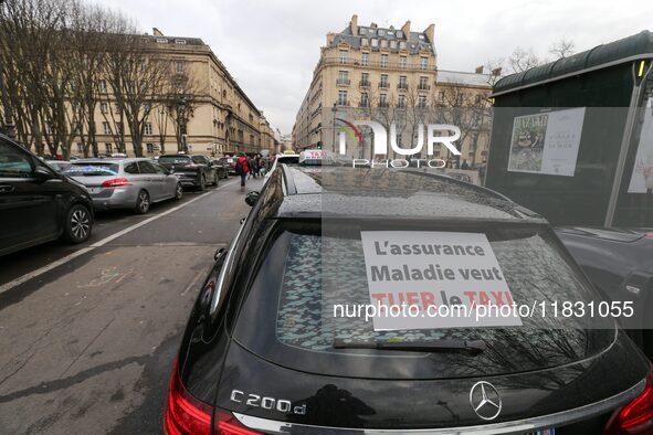
<svg viewBox="0 0 653 435">
<path fill-rule="evenodd" d="M 653 30 L 653 1 L 409 0 L 95 0 L 133 18 L 144 32 L 208 43 L 273 128 L 291 132 L 326 33 L 352 14 L 361 25 L 411 30 L 435 24 L 438 66 L 472 72 L 516 46 L 549 56 L 572 40 L 577 51 Z"/>
</svg>

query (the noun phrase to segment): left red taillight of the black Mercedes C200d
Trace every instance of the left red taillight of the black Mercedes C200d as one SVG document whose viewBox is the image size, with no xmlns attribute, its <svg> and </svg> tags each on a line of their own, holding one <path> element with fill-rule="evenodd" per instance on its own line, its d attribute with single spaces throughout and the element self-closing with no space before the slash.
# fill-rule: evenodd
<svg viewBox="0 0 653 435">
<path fill-rule="evenodd" d="M 211 435 L 213 407 L 190 395 L 181 384 L 177 360 L 170 374 L 164 429 L 168 435 Z"/>
</svg>

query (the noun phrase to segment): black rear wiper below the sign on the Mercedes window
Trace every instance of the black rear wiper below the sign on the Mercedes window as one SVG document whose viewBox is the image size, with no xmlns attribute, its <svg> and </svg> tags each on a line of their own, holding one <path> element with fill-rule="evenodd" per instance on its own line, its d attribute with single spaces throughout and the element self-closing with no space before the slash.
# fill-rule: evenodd
<svg viewBox="0 0 653 435">
<path fill-rule="evenodd" d="M 334 349 L 403 350 L 408 352 L 461 352 L 472 356 L 486 349 L 483 340 L 430 340 L 430 341 L 345 341 L 336 338 Z"/>
</svg>

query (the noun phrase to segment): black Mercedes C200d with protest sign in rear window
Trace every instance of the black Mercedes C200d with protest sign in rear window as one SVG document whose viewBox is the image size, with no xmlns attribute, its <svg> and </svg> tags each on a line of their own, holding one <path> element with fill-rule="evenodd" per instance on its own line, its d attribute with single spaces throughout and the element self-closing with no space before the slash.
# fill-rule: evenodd
<svg viewBox="0 0 653 435">
<path fill-rule="evenodd" d="M 423 317 L 600 303 L 539 215 L 392 169 L 282 165 L 246 202 L 175 360 L 167 434 L 651 433 L 651 364 L 613 318 Z M 356 312 L 390 295 L 422 317 Z"/>
</svg>

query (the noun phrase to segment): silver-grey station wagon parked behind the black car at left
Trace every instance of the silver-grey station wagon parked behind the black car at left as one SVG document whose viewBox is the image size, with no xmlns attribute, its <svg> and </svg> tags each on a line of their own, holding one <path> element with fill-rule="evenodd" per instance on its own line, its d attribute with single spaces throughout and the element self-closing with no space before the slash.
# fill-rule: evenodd
<svg viewBox="0 0 653 435">
<path fill-rule="evenodd" d="M 183 195 L 176 176 L 145 158 L 82 159 L 64 173 L 88 189 L 97 210 L 133 209 L 145 214 L 155 202 Z"/>
</svg>

